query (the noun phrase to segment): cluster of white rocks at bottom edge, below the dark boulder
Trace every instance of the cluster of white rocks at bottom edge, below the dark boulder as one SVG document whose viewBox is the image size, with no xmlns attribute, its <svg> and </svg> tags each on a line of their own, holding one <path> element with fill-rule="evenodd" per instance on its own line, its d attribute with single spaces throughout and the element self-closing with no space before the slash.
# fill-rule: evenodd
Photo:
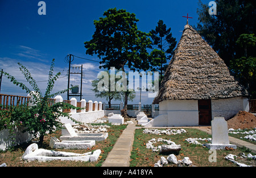
<svg viewBox="0 0 256 178">
<path fill-rule="evenodd" d="M 164 156 L 155 163 L 154 167 L 163 167 L 166 164 L 173 164 L 176 166 L 193 166 L 192 161 L 188 157 L 184 157 L 183 160 L 177 160 L 177 157 L 174 154 L 170 154 L 167 159 Z"/>
</svg>

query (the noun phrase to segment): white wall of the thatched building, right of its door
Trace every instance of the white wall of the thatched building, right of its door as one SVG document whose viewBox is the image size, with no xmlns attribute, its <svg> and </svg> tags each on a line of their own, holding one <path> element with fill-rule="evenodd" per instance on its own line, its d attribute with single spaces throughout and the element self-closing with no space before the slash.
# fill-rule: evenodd
<svg viewBox="0 0 256 178">
<path fill-rule="evenodd" d="M 247 98 L 237 97 L 212 100 L 212 118 L 224 117 L 227 120 L 236 115 L 238 111 L 249 111 L 249 101 Z"/>
</svg>

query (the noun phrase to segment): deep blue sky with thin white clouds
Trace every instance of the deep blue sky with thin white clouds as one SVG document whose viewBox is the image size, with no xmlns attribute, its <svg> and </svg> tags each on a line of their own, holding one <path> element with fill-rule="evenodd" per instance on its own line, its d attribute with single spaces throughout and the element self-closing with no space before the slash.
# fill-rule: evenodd
<svg viewBox="0 0 256 178">
<path fill-rule="evenodd" d="M 138 29 L 149 32 L 155 29 L 158 20 L 162 19 L 179 42 L 187 19 L 182 16 L 192 16 L 189 24 L 197 24 L 196 13 L 198 0 L 183 1 L 88 1 L 88 0 L 45 0 L 46 15 L 38 14 L 39 0 L 1 0 L 0 1 L 0 69 L 14 75 L 23 81 L 23 75 L 19 71 L 18 62 L 21 62 L 38 81 L 39 87 L 44 91 L 48 78 L 48 70 L 52 58 L 55 58 L 55 71 L 61 72 L 61 78 L 57 80 L 54 91 L 67 87 L 68 63 L 64 62 L 67 54 L 100 61 L 97 56 L 85 54 L 84 42 L 92 39 L 94 33 L 93 20 L 104 17 L 104 11 L 117 7 L 133 12 L 139 19 Z M 210 1 L 202 0 L 208 4 Z M 97 62 L 91 62 L 75 58 L 73 65 L 83 65 L 84 82 L 83 98 L 88 100 L 105 101 L 97 99 L 91 91 L 90 82 L 97 78 Z M 76 78 L 73 78 L 76 79 Z M 24 82 L 26 83 L 26 82 Z M 19 87 L 11 84 L 3 77 L 2 94 L 25 96 L 26 93 Z M 66 99 L 66 95 L 63 95 Z M 142 104 L 151 104 L 152 98 L 142 94 Z M 120 101 L 113 101 L 119 103 Z M 133 102 L 139 102 L 139 92 Z"/>
</svg>

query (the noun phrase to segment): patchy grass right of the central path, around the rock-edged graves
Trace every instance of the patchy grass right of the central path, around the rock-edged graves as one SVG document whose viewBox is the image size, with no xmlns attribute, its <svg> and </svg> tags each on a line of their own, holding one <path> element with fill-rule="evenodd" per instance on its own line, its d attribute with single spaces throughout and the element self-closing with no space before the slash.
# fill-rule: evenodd
<svg viewBox="0 0 256 178">
<path fill-rule="evenodd" d="M 154 166 L 155 163 L 160 160 L 161 156 L 167 158 L 168 155 L 162 155 L 159 152 L 152 152 L 146 149 L 146 143 L 152 138 L 163 138 L 171 139 L 176 145 L 181 145 L 181 151 L 177 156 L 177 160 L 182 160 L 184 157 L 189 157 L 194 166 L 199 167 L 233 167 L 235 164 L 225 160 L 225 156 L 228 154 L 238 155 L 240 152 L 246 152 L 245 149 L 236 150 L 217 150 L 217 162 L 209 162 L 209 149 L 202 146 L 189 145 L 186 138 L 211 138 L 212 136 L 197 129 L 186 128 L 187 133 L 177 135 L 154 135 L 154 134 L 143 134 L 144 129 L 135 130 L 134 145 L 131 151 L 130 166 L 131 167 L 150 167 Z M 207 143 L 205 141 L 199 141 L 201 143 Z M 166 144 L 158 142 L 158 145 Z M 155 144 L 154 146 L 158 146 Z M 247 154 L 246 154 L 247 155 Z M 253 154 L 254 155 L 254 154 Z M 237 158 L 238 162 L 252 164 L 255 166 L 255 160 L 246 160 Z M 168 166 L 172 166 L 168 164 Z"/>
</svg>

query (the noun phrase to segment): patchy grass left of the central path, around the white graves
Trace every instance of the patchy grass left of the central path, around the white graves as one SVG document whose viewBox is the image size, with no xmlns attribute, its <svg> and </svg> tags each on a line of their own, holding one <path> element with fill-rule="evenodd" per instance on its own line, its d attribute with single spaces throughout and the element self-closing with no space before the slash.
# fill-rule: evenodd
<svg viewBox="0 0 256 178">
<path fill-rule="evenodd" d="M 110 124 L 108 124 L 110 125 Z M 105 141 L 96 142 L 96 145 L 92 147 L 92 149 L 88 150 L 65 150 L 65 149 L 51 149 L 49 147 L 49 140 L 51 136 L 55 136 L 59 138 L 61 136 L 61 130 L 56 131 L 54 134 L 46 135 L 44 137 L 43 146 L 40 147 L 42 149 L 47 150 L 55 150 L 55 151 L 65 151 L 65 152 L 76 152 L 83 154 L 85 152 L 101 149 L 100 158 L 97 162 L 75 162 L 75 161 L 60 161 L 54 160 L 51 162 L 26 162 L 22 161 L 20 158 L 23 155 L 24 151 L 26 150 L 27 146 L 30 143 L 24 143 L 19 146 L 11 147 L 9 150 L 1 151 L 0 152 L 0 164 L 6 163 L 7 167 L 100 167 L 108 153 L 113 149 L 113 146 L 119 136 L 122 134 L 122 131 L 126 128 L 127 125 L 110 125 L 111 127 L 108 128 L 109 136 L 105 139 Z"/>
</svg>

